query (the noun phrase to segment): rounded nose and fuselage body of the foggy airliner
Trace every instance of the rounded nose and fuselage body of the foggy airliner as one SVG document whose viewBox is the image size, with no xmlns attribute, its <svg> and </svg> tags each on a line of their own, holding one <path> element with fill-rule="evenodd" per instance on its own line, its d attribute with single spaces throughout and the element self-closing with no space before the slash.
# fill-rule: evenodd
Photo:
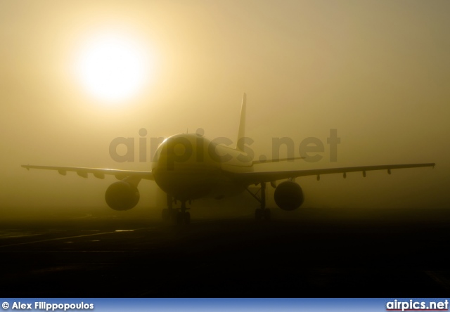
<svg viewBox="0 0 450 312">
<path fill-rule="evenodd" d="M 153 176 L 177 200 L 221 198 L 245 190 L 229 173 L 252 171 L 252 160 L 240 150 L 198 134 L 170 136 L 158 147 Z"/>
</svg>

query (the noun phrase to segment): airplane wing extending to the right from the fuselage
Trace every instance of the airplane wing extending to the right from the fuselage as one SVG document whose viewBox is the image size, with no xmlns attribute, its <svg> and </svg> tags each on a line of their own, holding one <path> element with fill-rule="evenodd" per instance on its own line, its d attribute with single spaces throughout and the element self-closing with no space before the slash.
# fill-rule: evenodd
<svg viewBox="0 0 450 312">
<path fill-rule="evenodd" d="M 366 176 L 366 171 L 387 170 L 391 174 L 392 169 L 418 168 L 418 167 L 435 167 L 435 163 L 427 164 L 383 164 L 379 166 L 360 166 L 360 167 L 342 167 L 328 169 L 308 169 L 308 170 L 292 170 L 292 171 L 264 171 L 264 172 L 245 172 L 232 174 L 233 180 L 245 184 L 257 184 L 260 182 L 274 182 L 285 178 L 297 178 L 299 176 L 317 176 L 320 180 L 321 174 L 343 174 L 344 178 L 347 172 L 361 171 Z"/>
</svg>

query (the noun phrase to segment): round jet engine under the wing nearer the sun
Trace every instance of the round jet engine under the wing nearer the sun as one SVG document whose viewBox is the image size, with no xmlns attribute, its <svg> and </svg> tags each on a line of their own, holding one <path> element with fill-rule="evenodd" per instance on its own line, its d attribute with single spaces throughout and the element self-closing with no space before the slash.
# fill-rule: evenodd
<svg viewBox="0 0 450 312">
<path fill-rule="evenodd" d="M 127 181 L 111 184 L 105 193 L 105 200 L 114 210 L 129 210 L 139 202 L 139 190 Z"/>
</svg>

